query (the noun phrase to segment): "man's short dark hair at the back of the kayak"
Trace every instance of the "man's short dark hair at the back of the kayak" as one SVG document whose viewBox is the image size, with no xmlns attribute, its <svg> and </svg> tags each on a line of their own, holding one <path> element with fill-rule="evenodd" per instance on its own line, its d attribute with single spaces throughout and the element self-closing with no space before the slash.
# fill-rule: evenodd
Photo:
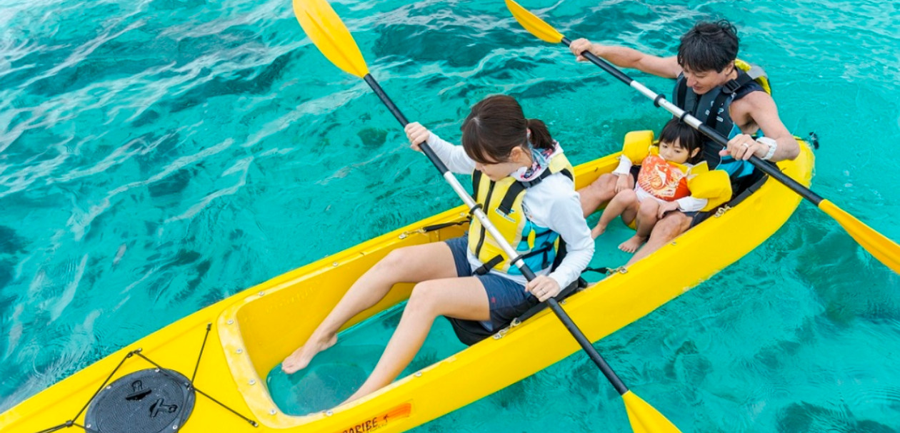
<svg viewBox="0 0 900 433">
<path fill-rule="evenodd" d="M 681 37 L 678 64 L 694 72 L 722 72 L 737 58 L 737 49 L 737 31 L 731 22 L 698 22 Z"/>
</svg>

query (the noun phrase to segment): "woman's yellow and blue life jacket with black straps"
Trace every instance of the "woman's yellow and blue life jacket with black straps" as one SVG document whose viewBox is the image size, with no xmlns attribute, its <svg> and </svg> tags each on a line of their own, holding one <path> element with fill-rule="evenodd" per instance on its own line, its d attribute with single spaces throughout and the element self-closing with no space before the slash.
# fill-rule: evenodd
<svg viewBox="0 0 900 433">
<path fill-rule="evenodd" d="M 473 198 L 482 206 L 491 224 L 497 227 L 500 234 L 534 272 L 553 265 L 560 239 L 559 234 L 553 230 L 536 225 L 528 219 L 522 208 L 522 199 L 525 199 L 528 188 L 558 172 L 572 179 L 574 185 L 572 163 L 569 163 L 562 153 L 552 156 L 549 166 L 533 181 L 518 181 L 511 176 L 500 181 L 491 181 L 488 176 L 477 170 L 472 174 Z M 487 233 L 478 218 L 472 218 L 469 224 L 469 251 L 482 262 L 482 268 L 475 270 L 477 274 L 498 270 L 510 275 L 522 275 L 522 272 L 512 265 L 510 258 L 497 241 Z"/>
</svg>

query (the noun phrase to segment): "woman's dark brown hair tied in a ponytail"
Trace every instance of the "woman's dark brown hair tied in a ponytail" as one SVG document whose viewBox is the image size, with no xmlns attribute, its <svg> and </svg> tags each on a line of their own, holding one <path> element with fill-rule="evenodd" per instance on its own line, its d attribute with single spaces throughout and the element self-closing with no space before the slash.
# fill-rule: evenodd
<svg viewBox="0 0 900 433">
<path fill-rule="evenodd" d="M 531 129 L 532 146 L 554 147 L 544 122 L 526 119 L 522 107 L 511 96 L 497 94 L 473 105 L 463 122 L 465 154 L 478 163 L 504 163 L 516 146 L 526 146 Z"/>
</svg>

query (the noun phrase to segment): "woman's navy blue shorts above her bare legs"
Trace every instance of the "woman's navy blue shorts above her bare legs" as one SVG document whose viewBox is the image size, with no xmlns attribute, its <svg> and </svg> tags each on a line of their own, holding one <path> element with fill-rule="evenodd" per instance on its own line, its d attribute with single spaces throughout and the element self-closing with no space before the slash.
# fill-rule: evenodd
<svg viewBox="0 0 900 433">
<path fill-rule="evenodd" d="M 453 252 L 456 276 L 478 278 L 488 293 L 491 320 L 481 322 L 485 329 L 488 331 L 500 330 L 513 319 L 524 314 L 529 308 L 537 305 L 537 298 L 526 292 L 525 287 L 516 281 L 491 273 L 475 275 L 467 256 L 469 248 L 467 236 L 450 239 L 446 241 L 446 244 Z"/>
</svg>

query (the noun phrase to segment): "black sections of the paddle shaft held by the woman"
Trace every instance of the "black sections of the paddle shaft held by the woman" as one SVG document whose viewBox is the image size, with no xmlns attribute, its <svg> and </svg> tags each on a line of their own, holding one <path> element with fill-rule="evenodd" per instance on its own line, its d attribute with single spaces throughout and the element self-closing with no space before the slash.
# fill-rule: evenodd
<svg viewBox="0 0 900 433">
<path fill-rule="evenodd" d="M 369 84 L 369 87 L 372 87 L 372 90 L 375 92 L 375 94 L 378 95 L 378 98 L 382 100 L 384 105 L 387 106 L 388 110 L 391 110 L 391 114 L 393 114 L 394 117 L 397 118 L 398 121 L 400 121 L 401 126 L 403 128 L 406 128 L 406 126 L 410 124 L 410 121 L 406 119 L 406 116 L 403 116 L 403 113 L 401 113 L 400 109 L 397 108 L 397 105 L 393 103 L 393 101 L 391 101 L 391 97 L 389 97 L 387 93 L 384 93 L 384 89 L 382 89 L 382 86 L 378 84 L 377 81 L 375 81 L 374 77 L 371 74 L 366 74 L 363 79 L 365 80 L 366 84 Z M 428 146 L 428 143 L 422 142 L 419 145 L 419 148 L 422 149 L 422 153 L 428 156 L 428 159 L 435 165 L 437 171 L 441 172 L 441 175 L 444 175 L 447 172 L 446 165 L 443 161 L 441 161 L 440 158 L 437 157 L 437 154 L 435 154 L 435 151 L 431 149 L 431 146 Z M 498 239 L 498 242 L 502 241 Z M 525 276 L 528 281 L 536 278 L 535 273 L 528 268 L 528 265 L 526 265 L 524 261 L 518 260 L 517 266 L 518 269 L 522 271 L 522 275 Z M 551 297 L 550 299 L 547 299 L 546 303 L 547 305 L 550 305 L 550 309 L 553 310 L 553 312 L 560 319 L 560 322 L 563 323 L 565 328 L 569 330 L 570 333 L 572 333 L 572 336 L 575 337 L 575 340 L 577 340 L 578 344 L 581 345 L 581 349 L 584 349 L 584 351 L 588 352 L 590 360 L 594 361 L 594 364 L 597 364 L 597 367 L 600 368 L 603 376 L 607 376 L 609 383 L 613 384 L 613 386 L 616 388 L 616 391 L 620 395 L 627 393 L 628 387 L 624 383 L 622 383 L 622 380 L 619 379 L 613 369 L 609 367 L 607 361 L 600 356 L 597 349 L 594 349 L 594 346 L 590 344 L 590 340 L 585 337 L 584 332 L 582 332 L 578 328 L 578 326 L 574 322 L 572 322 L 572 318 L 569 317 L 569 314 L 566 314 L 565 310 L 563 310 L 563 307 L 560 306 L 558 302 L 556 302 L 556 299 Z"/>
</svg>

